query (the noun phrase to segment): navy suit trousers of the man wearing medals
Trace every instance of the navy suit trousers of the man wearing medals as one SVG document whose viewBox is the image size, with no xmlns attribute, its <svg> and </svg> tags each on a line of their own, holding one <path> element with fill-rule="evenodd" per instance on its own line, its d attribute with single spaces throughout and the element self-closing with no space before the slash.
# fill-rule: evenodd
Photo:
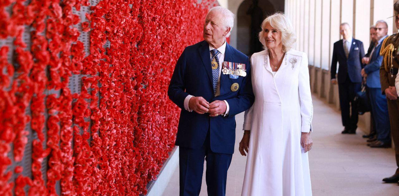
<svg viewBox="0 0 399 196">
<path fill-rule="evenodd" d="M 233 154 L 212 152 L 209 132 L 199 149 L 179 147 L 180 196 L 199 195 L 204 159 L 208 196 L 225 196 L 227 170 L 232 157 Z"/>
</svg>

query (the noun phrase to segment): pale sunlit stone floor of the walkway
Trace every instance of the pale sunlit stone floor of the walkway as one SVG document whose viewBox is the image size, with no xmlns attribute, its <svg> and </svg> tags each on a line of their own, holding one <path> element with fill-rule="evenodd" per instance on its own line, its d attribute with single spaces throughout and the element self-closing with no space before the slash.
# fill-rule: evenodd
<svg viewBox="0 0 399 196">
<path fill-rule="evenodd" d="M 366 146 L 363 132 L 342 135 L 340 113 L 324 101 L 313 97 L 313 149 L 309 153 L 310 175 L 314 196 L 399 196 L 397 184 L 381 180 L 396 170 L 392 148 Z M 235 153 L 227 174 L 227 196 L 240 196 L 246 157 L 238 152 L 243 113 L 237 115 Z M 164 196 L 178 196 L 179 170 L 174 172 Z M 200 196 L 206 196 L 205 170 Z"/>
</svg>

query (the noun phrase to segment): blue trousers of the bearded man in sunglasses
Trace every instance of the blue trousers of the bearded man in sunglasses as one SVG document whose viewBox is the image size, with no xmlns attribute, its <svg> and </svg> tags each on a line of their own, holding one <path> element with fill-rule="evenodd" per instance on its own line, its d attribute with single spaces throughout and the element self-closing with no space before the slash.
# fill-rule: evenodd
<svg viewBox="0 0 399 196">
<path fill-rule="evenodd" d="M 387 99 L 381 94 L 381 88 L 369 88 L 370 103 L 373 110 L 373 119 L 377 131 L 377 140 L 390 143 L 390 124 L 388 115 Z"/>
</svg>

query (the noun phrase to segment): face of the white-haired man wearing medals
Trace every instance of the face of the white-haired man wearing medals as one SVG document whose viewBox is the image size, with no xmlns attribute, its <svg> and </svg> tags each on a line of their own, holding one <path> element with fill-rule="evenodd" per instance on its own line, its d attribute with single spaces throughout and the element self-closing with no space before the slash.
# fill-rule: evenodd
<svg viewBox="0 0 399 196">
<path fill-rule="evenodd" d="M 211 45 L 223 44 L 225 36 L 229 32 L 222 21 L 222 14 L 217 12 L 209 12 L 203 24 L 203 39 Z"/>
</svg>

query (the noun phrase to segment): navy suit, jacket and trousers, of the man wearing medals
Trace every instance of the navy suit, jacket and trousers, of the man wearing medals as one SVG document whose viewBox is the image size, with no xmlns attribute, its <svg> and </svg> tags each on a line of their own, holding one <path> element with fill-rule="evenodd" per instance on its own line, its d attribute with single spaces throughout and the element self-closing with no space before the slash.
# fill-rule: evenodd
<svg viewBox="0 0 399 196">
<path fill-rule="evenodd" d="M 230 79 L 221 74 L 219 96 L 213 95 L 211 56 L 205 41 L 184 49 L 170 80 L 168 96 L 182 109 L 176 137 L 180 149 L 180 195 L 199 194 L 204 158 L 208 195 L 225 195 L 227 169 L 234 152 L 235 115 L 251 107 L 254 95 L 247 55 L 226 44 L 224 61 L 246 64 L 247 76 Z M 237 91 L 231 91 L 233 83 L 239 84 Z M 209 117 L 209 113 L 189 112 L 184 109 L 188 95 L 203 97 L 209 103 L 226 100 L 229 114 Z"/>
</svg>

